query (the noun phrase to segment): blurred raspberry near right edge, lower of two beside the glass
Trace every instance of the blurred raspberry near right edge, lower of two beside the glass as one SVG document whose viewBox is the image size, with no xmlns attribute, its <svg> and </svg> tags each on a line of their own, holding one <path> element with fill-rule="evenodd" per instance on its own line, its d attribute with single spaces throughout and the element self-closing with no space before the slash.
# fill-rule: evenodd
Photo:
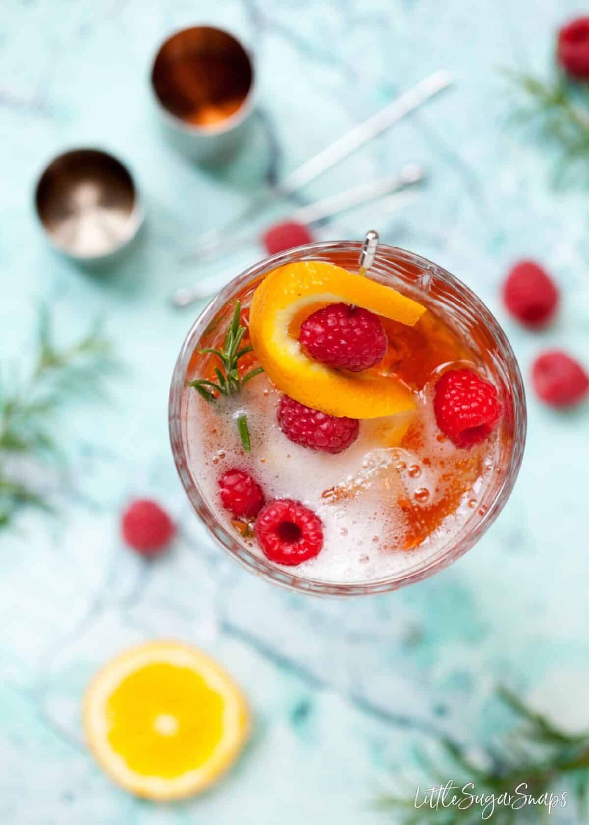
<svg viewBox="0 0 589 825">
<path fill-rule="evenodd" d="M 534 389 L 551 407 L 570 407 L 587 395 L 589 377 L 566 352 L 544 352 L 532 366 Z"/>
</svg>

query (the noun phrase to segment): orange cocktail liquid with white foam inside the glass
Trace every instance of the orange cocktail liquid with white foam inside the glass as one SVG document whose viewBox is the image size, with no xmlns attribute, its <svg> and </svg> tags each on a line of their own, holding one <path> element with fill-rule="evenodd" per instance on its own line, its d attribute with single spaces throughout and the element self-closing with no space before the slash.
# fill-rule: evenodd
<svg viewBox="0 0 589 825">
<path fill-rule="evenodd" d="M 256 285 L 238 295 L 245 326 Z M 218 347 L 223 341 L 233 302 L 210 324 L 200 347 Z M 374 368 L 403 380 L 415 395 L 417 410 L 361 421 L 358 440 L 339 455 L 314 453 L 286 439 L 276 422 L 280 390 L 266 375 L 250 381 L 221 413 L 190 390 L 186 440 L 191 467 L 219 520 L 241 535 L 248 548 L 259 552 L 251 526 L 232 521 L 219 503 L 218 479 L 234 467 L 246 469 L 272 497 L 296 498 L 322 518 L 325 546 L 296 573 L 325 581 L 368 581 L 403 571 L 443 549 L 470 516 L 484 512 L 484 494 L 505 446 L 502 440 L 509 436 L 499 427 L 478 446 L 455 447 L 436 426 L 433 396 L 436 379 L 449 366 L 474 369 L 492 380 L 492 342 L 476 323 L 468 340 L 459 334 L 436 313 L 435 295 L 422 303 L 428 311 L 414 327 L 381 319 L 389 344 L 384 361 Z M 246 334 L 243 346 L 248 342 Z M 209 355 L 196 351 L 186 378 L 214 379 L 215 365 Z M 240 360 L 239 371 L 256 365 L 252 352 Z M 243 412 L 252 435 L 249 454 L 234 422 Z"/>
</svg>

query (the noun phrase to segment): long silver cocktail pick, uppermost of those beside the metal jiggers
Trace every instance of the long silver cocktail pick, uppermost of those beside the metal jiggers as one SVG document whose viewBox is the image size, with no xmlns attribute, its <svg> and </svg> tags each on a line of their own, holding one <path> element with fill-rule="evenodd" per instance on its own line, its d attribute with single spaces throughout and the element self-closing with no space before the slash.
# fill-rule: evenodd
<svg viewBox="0 0 589 825">
<path fill-rule="evenodd" d="M 302 166 L 295 169 L 294 172 L 290 172 L 280 183 L 277 183 L 276 186 L 271 186 L 262 197 L 254 200 L 247 206 L 247 210 L 238 214 L 223 228 L 211 229 L 209 232 L 202 234 L 200 238 L 197 238 L 196 250 L 189 256 L 190 259 L 206 260 L 213 257 L 220 249 L 227 247 L 228 232 L 237 229 L 247 220 L 252 219 L 269 201 L 274 198 L 292 195 L 301 186 L 310 183 L 310 181 L 322 175 L 323 172 L 327 172 L 327 169 L 331 169 L 336 163 L 347 158 L 357 148 L 398 123 L 403 117 L 411 114 L 412 111 L 422 106 L 431 97 L 449 87 L 452 82 L 453 78 L 450 72 L 442 68 L 418 82 L 417 86 L 409 89 L 408 92 L 404 92 L 387 106 L 384 106 L 383 109 L 376 112 L 375 115 L 371 115 L 367 120 L 342 135 L 333 144 L 322 149 L 313 158 L 309 158 Z"/>
</svg>

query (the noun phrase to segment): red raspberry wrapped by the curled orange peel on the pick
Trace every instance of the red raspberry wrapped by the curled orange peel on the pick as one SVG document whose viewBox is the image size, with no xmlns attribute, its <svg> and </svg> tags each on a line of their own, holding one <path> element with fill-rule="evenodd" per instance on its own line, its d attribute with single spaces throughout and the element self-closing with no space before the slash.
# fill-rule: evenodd
<svg viewBox="0 0 589 825">
<path fill-rule="evenodd" d="M 346 304 L 331 304 L 309 315 L 299 342 L 316 361 L 352 372 L 375 366 L 387 351 L 378 315 Z"/>
</svg>

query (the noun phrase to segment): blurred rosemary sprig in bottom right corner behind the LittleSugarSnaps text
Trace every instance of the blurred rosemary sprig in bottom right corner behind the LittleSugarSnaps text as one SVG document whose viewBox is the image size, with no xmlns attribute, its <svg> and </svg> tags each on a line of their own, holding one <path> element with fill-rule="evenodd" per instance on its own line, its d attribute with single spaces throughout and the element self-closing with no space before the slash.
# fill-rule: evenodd
<svg viewBox="0 0 589 825">
<path fill-rule="evenodd" d="M 500 688 L 498 696 L 516 715 L 518 724 L 508 733 L 502 747 L 483 751 L 483 765 L 470 759 L 454 741 L 442 738 L 438 744 L 439 758 L 432 761 L 422 752 L 418 761 L 424 772 L 420 783 L 420 801 L 426 788 L 445 785 L 452 780 L 455 790 L 449 792 L 463 797 L 462 789 L 469 785 L 468 793 L 483 794 L 483 798 L 495 800 L 491 813 L 495 823 L 529 822 L 530 815 L 540 820 L 547 808 L 516 803 L 516 790 L 520 794 L 540 799 L 543 794 L 559 794 L 563 788 L 557 783 L 567 783 L 577 804 L 579 821 L 585 821 L 587 790 L 589 790 L 589 731 L 578 734 L 566 733 L 549 719 L 525 705 L 515 694 Z M 525 785 L 525 789 L 524 789 Z M 416 804 L 413 795 L 386 796 L 379 799 L 379 808 L 395 811 L 395 823 L 400 825 L 470 825 L 480 823 L 483 803 L 466 804 Z M 502 795 L 504 794 L 504 795 Z M 508 804 L 511 794 L 514 804 Z M 505 800 L 505 801 L 502 801 Z M 466 797 L 467 802 L 469 801 Z M 489 802 L 487 811 L 491 808 Z"/>
</svg>

